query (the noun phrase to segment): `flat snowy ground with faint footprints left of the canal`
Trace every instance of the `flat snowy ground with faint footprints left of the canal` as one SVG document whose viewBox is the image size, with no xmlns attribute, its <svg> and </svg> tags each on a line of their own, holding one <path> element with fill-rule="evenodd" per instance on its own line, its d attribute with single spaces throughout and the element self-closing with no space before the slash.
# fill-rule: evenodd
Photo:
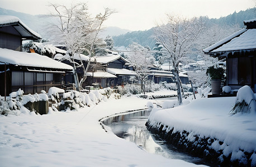
<svg viewBox="0 0 256 167">
<path fill-rule="evenodd" d="M 196 166 L 146 153 L 98 121 L 147 102 L 132 96 L 79 111 L 0 115 L 0 166 Z"/>
</svg>

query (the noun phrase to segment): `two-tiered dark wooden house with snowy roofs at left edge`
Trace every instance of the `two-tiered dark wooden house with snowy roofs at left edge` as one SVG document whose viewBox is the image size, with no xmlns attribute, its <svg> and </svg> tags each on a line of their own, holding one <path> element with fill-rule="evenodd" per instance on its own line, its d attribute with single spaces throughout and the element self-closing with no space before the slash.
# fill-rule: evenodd
<svg viewBox="0 0 256 167">
<path fill-rule="evenodd" d="M 14 16 L 0 16 L 0 95 L 21 89 L 25 94 L 61 87 L 63 75 L 72 66 L 37 53 L 21 52 L 23 40 L 41 36 Z"/>
</svg>

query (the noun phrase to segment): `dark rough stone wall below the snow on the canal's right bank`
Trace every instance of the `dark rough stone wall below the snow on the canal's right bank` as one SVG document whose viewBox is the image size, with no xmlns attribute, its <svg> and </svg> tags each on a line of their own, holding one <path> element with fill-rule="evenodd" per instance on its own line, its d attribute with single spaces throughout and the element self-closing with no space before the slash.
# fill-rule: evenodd
<svg viewBox="0 0 256 167">
<path fill-rule="evenodd" d="M 202 138 L 200 135 L 193 135 L 194 140 L 190 141 L 188 140 L 188 138 L 191 138 L 189 132 L 174 132 L 174 128 L 167 132 L 166 129 L 168 129 L 168 126 L 164 127 L 161 122 L 158 122 L 157 125 L 153 126 L 147 121 L 146 127 L 151 133 L 157 134 L 161 139 L 167 141 L 168 144 L 172 144 L 181 151 L 203 158 L 212 164 L 220 166 L 252 166 L 252 160 L 250 160 L 250 158 L 253 155 L 253 152 L 246 153 L 244 150 L 239 150 L 244 154 L 243 159 L 231 160 L 231 154 L 225 156 L 223 150 L 213 149 L 212 145 L 214 144 L 224 144 L 224 142 L 219 139 L 211 139 L 210 137 Z"/>
</svg>

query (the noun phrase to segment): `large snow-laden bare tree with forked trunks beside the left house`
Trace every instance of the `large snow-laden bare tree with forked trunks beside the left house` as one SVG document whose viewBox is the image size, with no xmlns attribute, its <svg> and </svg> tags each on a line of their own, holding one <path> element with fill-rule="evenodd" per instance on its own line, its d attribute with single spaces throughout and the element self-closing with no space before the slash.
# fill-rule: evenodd
<svg viewBox="0 0 256 167">
<path fill-rule="evenodd" d="M 67 46 L 67 54 L 69 61 L 73 64 L 73 75 L 75 87 L 78 91 L 82 88 L 83 82 L 86 80 L 91 57 L 93 56 L 94 44 L 98 41 L 98 33 L 102 30 L 102 24 L 114 11 L 105 8 L 105 13 L 97 14 L 92 17 L 88 13 L 86 3 L 71 4 L 70 7 L 60 4 L 49 4 L 54 8 L 54 12 L 48 14 L 50 18 L 58 18 L 58 20 L 48 27 L 49 35 L 55 43 Z M 80 57 L 80 63 L 75 62 L 74 53 L 84 53 L 89 56 L 89 61 L 84 67 Z M 84 75 L 79 81 L 77 76 L 77 67 L 82 67 Z"/>
</svg>

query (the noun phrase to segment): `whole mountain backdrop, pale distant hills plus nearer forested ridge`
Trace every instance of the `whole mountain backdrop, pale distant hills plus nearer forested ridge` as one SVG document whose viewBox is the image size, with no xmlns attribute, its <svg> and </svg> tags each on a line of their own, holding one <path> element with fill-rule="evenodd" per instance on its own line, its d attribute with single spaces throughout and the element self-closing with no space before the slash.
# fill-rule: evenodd
<svg viewBox="0 0 256 167">
<path fill-rule="evenodd" d="M 35 32 L 39 33 L 43 38 L 45 38 L 45 24 L 49 22 L 49 18 L 44 17 L 44 15 L 31 15 L 26 13 L 20 13 L 12 10 L 7 10 L 0 8 L 1 15 L 12 15 L 21 19 L 28 27 L 30 27 Z M 206 26 L 212 24 L 218 24 L 220 26 L 239 24 L 240 27 L 243 27 L 243 21 L 248 19 L 256 18 L 256 8 L 247 9 L 246 11 L 240 11 L 238 13 L 234 12 L 229 14 L 226 17 L 220 18 L 208 18 L 207 16 L 203 17 L 206 22 Z M 153 29 L 146 31 L 132 31 L 123 30 L 118 27 L 107 27 L 103 31 L 101 37 L 105 38 L 107 35 L 112 36 L 115 46 L 125 46 L 128 47 L 132 42 L 139 43 L 141 46 L 149 46 L 151 49 L 155 47 L 155 41 L 151 36 L 153 35 Z M 121 35 L 120 35 L 121 34 Z"/>
</svg>

